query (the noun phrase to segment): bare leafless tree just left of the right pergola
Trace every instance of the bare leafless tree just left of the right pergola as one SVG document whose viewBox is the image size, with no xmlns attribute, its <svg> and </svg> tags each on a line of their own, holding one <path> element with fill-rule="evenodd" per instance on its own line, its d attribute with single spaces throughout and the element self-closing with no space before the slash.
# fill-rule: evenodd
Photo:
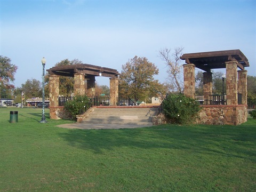
<svg viewBox="0 0 256 192">
<path fill-rule="evenodd" d="M 182 65 L 180 65 L 180 57 L 183 52 L 183 47 L 177 47 L 174 49 L 174 53 L 171 54 L 171 49 L 161 49 L 159 50 L 159 58 L 165 61 L 168 66 L 167 73 L 169 73 L 169 84 L 172 85 L 170 88 L 172 90 L 178 90 L 180 93 L 182 92 L 182 78 L 180 77 L 182 74 Z"/>
</svg>

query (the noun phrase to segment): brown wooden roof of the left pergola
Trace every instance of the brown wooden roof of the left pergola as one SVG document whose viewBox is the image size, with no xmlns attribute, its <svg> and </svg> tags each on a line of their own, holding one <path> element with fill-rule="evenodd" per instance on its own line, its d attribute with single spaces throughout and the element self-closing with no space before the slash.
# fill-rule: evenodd
<svg viewBox="0 0 256 192">
<path fill-rule="evenodd" d="M 67 66 L 58 66 L 47 69 L 50 75 L 60 75 L 74 77 L 75 73 L 83 73 L 86 76 L 103 76 L 103 77 L 118 77 L 119 73 L 116 69 L 94 66 L 89 64 L 76 64 Z"/>
</svg>

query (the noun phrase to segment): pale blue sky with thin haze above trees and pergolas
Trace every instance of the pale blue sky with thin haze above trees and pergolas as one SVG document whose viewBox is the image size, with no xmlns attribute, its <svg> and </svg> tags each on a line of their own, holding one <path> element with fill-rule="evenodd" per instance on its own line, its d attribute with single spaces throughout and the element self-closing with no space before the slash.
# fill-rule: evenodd
<svg viewBox="0 0 256 192">
<path fill-rule="evenodd" d="M 255 0 L 0 0 L 0 55 L 18 66 L 15 87 L 42 81 L 64 59 L 117 69 L 137 55 L 168 74 L 163 48 L 183 53 L 241 50 L 256 76 Z M 184 61 L 181 63 L 185 64 Z M 220 70 L 225 73 L 225 69 Z M 108 85 L 107 77 L 96 77 Z"/>
</svg>

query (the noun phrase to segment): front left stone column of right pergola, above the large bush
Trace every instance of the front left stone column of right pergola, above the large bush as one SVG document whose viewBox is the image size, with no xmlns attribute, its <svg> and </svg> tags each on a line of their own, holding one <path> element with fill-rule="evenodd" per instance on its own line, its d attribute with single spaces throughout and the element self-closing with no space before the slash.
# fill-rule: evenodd
<svg viewBox="0 0 256 192">
<path fill-rule="evenodd" d="M 184 71 L 184 94 L 195 99 L 195 65 L 183 65 Z"/>
</svg>

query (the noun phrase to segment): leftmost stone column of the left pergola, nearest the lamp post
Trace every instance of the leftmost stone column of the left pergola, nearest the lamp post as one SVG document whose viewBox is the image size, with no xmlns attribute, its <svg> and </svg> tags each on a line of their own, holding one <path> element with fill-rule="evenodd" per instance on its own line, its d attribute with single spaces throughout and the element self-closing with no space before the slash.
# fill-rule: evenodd
<svg viewBox="0 0 256 192">
<path fill-rule="evenodd" d="M 59 76 L 58 75 L 50 75 L 49 76 L 49 100 L 51 107 L 59 106 Z"/>
</svg>

